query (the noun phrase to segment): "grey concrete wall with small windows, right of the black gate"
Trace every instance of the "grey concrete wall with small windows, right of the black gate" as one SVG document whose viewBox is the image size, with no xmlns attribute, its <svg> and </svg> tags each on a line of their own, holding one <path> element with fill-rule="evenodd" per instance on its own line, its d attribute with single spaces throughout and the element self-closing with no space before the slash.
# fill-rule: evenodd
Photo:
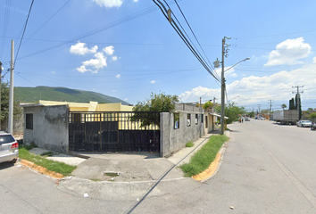
<svg viewBox="0 0 316 214">
<path fill-rule="evenodd" d="M 179 106 L 178 106 L 179 107 Z M 161 113 L 161 156 L 169 157 L 172 153 L 184 148 L 187 142 L 195 141 L 204 136 L 204 110 L 194 106 L 184 106 L 184 109 L 191 111 L 179 111 L 179 128 L 174 128 L 174 115 L 169 112 Z M 181 109 L 180 107 L 177 109 Z M 187 114 L 191 115 L 191 126 L 187 127 Z M 195 124 L 195 114 L 198 115 L 198 122 Z"/>
</svg>

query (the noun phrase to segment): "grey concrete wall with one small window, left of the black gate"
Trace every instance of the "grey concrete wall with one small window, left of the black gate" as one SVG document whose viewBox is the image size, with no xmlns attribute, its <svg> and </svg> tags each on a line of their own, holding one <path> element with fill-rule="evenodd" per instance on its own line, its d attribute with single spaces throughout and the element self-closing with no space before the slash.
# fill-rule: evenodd
<svg viewBox="0 0 316 214">
<path fill-rule="evenodd" d="M 41 148 L 54 152 L 69 152 L 67 105 L 24 107 L 24 124 L 27 113 L 33 114 L 33 129 L 24 126 L 24 144 L 34 141 Z"/>
</svg>

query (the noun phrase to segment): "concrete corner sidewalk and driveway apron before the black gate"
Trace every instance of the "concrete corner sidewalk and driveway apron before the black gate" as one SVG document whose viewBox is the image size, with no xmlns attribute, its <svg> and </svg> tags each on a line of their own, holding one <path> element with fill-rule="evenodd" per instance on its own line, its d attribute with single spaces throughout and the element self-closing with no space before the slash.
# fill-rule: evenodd
<svg viewBox="0 0 316 214">
<path fill-rule="evenodd" d="M 212 134 L 205 135 L 196 140 L 193 147 L 186 147 L 168 159 L 149 152 L 76 152 L 80 158 L 56 154 L 48 159 L 77 166 L 71 178 L 59 181 L 57 188 L 64 192 L 103 200 L 137 202 L 148 192 L 147 197 L 153 197 L 174 191 L 186 193 L 199 187 L 201 183 L 184 177 L 178 166 L 189 161 L 210 136 Z M 47 151 L 34 148 L 30 152 Z"/>
</svg>

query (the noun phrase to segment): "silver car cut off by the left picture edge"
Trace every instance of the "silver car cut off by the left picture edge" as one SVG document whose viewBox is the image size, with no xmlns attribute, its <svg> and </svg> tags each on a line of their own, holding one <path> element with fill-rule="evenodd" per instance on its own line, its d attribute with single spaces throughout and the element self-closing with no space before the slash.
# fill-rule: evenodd
<svg viewBox="0 0 316 214">
<path fill-rule="evenodd" d="M 0 163 L 16 161 L 19 157 L 19 143 L 14 137 L 4 131 L 0 131 Z"/>
</svg>

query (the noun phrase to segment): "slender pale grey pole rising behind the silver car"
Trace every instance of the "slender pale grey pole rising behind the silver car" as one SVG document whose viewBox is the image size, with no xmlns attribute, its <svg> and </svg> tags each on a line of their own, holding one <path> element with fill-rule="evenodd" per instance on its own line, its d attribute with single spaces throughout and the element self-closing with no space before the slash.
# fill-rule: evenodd
<svg viewBox="0 0 316 214">
<path fill-rule="evenodd" d="M 13 72 L 14 72 L 14 40 L 11 40 L 11 75 L 9 96 L 9 133 L 13 134 Z"/>
</svg>

